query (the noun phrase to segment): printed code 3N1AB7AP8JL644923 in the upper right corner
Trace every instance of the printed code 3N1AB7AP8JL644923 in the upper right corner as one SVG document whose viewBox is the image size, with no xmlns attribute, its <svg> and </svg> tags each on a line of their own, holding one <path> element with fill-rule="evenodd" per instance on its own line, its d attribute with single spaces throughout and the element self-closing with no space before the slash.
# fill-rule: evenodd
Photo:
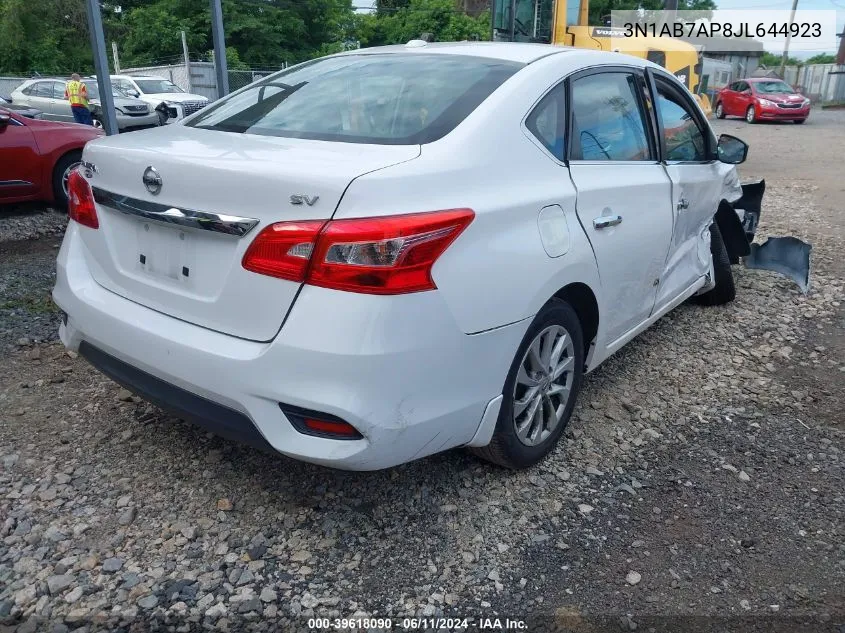
<svg viewBox="0 0 845 633">
<path fill-rule="evenodd" d="M 622 37 L 806 37 L 822 36 L 819 22 L 775 23 L 759 22 L 674 22 L 674 23 L 633 23 L 626 22 L 619 33 Z"/>
</svg>

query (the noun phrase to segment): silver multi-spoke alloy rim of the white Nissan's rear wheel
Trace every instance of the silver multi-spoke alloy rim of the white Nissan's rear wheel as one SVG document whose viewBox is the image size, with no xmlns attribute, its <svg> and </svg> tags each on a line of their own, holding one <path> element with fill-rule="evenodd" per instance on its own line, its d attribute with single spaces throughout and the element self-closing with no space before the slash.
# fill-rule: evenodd
<svg viewBox="0 0 845 633">
<path fill-rule="evenodd" d="M 550 325 L 534 337 L 519 364 L 513 393 L 513 424 L 526 446 L 543 443 L 560 424 L 569 402 L 575 346 L 569 332 Z"/>
</svg>

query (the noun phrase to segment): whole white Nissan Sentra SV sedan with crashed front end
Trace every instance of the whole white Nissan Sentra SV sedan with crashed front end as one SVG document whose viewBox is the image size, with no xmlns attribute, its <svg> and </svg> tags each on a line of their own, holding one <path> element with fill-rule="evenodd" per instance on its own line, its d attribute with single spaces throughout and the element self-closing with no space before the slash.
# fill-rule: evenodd
<svg viewBox="0 0 845 633">
<path fill-rule="evenodd" d="M 61 339 L 296 459 L 371 470 L 471 447 L 527 467 L 585 372 L 691 297 L 733 299 L 746 153 L 630 56 L 412 42 L 318 59 L 87 145 Z"/>
</svg>

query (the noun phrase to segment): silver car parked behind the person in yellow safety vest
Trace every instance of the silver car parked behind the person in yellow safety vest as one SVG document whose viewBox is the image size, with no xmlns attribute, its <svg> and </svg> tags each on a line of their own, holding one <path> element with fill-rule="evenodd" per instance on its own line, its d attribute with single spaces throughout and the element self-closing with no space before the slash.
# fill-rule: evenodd
<svg viewBox="0 0 845 633">
<path fill-rule="evenodd" d="M 12 92 L 12 103 L 38 108 L 44 118 L 52 121 L 73 122 L 70 102 L 65 99 L 65 82 L 62 79 L 30 79 L 23 82 Z M 102 127 L 102 107 L 97 81 L 84 79 L 88 88 L 91 113 L 94 126 Z M 130 97 L 118 90 L 112 90 L 117 126 L 123 130 L 159 125 L 158 114 L 149 105 Z"/>
</svg>

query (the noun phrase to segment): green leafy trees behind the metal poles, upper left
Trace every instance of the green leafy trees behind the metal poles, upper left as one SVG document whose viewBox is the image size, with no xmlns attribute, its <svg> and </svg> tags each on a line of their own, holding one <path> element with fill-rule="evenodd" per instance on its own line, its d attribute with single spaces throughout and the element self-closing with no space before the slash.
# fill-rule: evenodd
<svg viewBox="0 0 845 633">
<path fill-rule="evenodd" d="M 485 39 L 489 12 L 475 13 L 487 1 L 378 0 L 375 13 L 359 14 L 353 0 L 223 0 L 226 57 L 232 68 L 277 67 L 423 33 L 440 41 Z M 106 44 L 118 43 L 124 68 L 179 63 L 180 31 L 193 55 L 210 59 L 208 0 L 100 2 Z M 0 0 L 0 42 L 2 73 L 93 70 L 83 0 Z"/>
</svg>

